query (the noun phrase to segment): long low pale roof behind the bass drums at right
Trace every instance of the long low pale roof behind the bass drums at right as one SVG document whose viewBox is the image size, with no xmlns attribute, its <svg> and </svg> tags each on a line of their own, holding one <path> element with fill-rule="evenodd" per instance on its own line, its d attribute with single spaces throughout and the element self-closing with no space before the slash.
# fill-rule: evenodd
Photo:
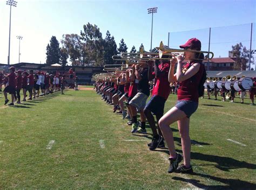
<svg viewBox="0 0 256 190">
<path fill-rule="evenodd" d="M 242 75 L 253 78 L 256 77 L 256 71 L 206 71 L 207 77 L 218 77 L 223 78 L 227 75 L 237 75 L 238 78 L 241 78 Z"/>
</svg>

